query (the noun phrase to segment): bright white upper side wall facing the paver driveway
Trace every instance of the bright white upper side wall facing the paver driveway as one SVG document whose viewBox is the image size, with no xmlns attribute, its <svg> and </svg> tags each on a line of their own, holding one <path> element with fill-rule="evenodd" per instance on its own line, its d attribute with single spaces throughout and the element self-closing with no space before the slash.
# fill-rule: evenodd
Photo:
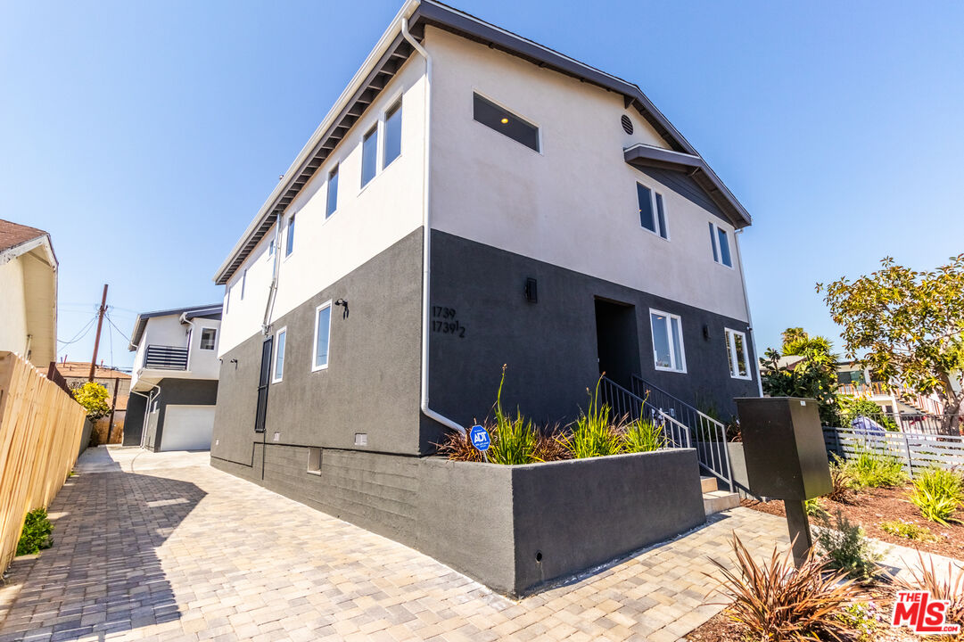
<svg viewBox="0 0 964 642">
<path fill-rule="evenodd" d="M 281 225 L 281 261 L 272 321 L 421 226 L 424 70 L 421 57 L 415 55 L 409 59 L 286 209 Z M 385 146 L 380 141 L 378 174 L 362 187 L 362 137 L 376 123 L 380 126 L 379 136 L 384 136 L 385 112 L 399 98 L 402 99 L 401 155 L 383 169 Z M 338 165 L 338 205 L 335 213 L 326 219 L 328 175 L 335 165 Z M 285 256 L 285 230 L 292 214 L 295 215 L 294 250 Z M 269 246 L 273 238 L 274 232 L 266 235 L 228 281 L 220 355 L 261 329 L 272 279 L 273 257 Z"/>
</svg>

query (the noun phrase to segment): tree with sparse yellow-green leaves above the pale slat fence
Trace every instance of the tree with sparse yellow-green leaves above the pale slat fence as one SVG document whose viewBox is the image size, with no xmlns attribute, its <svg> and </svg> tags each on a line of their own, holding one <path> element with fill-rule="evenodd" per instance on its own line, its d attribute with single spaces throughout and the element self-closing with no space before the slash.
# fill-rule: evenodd
<svg viewBox="0 0 964 642">
<path fill-rule="evenodd" d="M 897 265 L 890 256 L 881 269 L 855 281 L 824 285 L 833 320 L 844 329 L 847 357 L 859 361 L 892 384 L 920 394 L 936 392 L 944 403 L 941 429 L 956 431 L 964 394 L 964 254 L 947 265 L 918 272 Z M 953 382 L 958 384 L 954 389 Z"/>
</svg>

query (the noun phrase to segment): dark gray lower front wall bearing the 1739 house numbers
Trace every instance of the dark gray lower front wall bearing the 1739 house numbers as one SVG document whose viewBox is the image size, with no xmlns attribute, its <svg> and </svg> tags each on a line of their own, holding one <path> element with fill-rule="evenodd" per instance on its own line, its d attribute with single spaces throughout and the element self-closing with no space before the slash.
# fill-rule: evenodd
<svg viewBox="0 0 964 642">
<path fill-rule="evenodd" d="M 537 303 L 523 296 L 526 278 L 538 283 Z M 659 278 L 655 270 L 653 279 Z M 432 334 L 433 410 L 463 425 L 481 420 L 495 401 L 504 363 L 503 407 L 519 407 L 538 422 L 574 418 L 600 375 L 599 300 L 631 307 L 635 336 L 625 345 L 638 354 L 625 362 L 638 362 L 644 379 L 684 402 L 713 404 L 723 417 L 736 414 L 734 397 L 758 394 L 755 373 L 753 381 L 730 376 L 725 328 L 746 331 L 746 322 L 434 230 L 432 304 L 442 315 L 435 320 L 457 322 L 459 331 L 442 326 Z M 650 308 L 681 316 L 686 373 L 656 370 Z M 751 346 L 750 362 L 755 359 Z"/>
</svg>

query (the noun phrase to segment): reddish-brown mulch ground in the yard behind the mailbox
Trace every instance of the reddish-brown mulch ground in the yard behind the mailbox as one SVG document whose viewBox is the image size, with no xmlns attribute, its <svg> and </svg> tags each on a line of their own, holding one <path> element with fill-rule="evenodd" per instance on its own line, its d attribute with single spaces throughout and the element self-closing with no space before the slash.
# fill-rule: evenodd
<svg viewBox="0 0 964 642">
<path fill-rule="evenodd" d="M 823 498 L 820 500 L 820 505 L 831 515 L 836 514 L 838 510 L 842 511 L 849 522 L 859 523 L 864 527 L 867 536 L 875 540 L 907 548 L 919 548 L 956 559 L 964 559 L 964 525 L 944 526 L 937 522 L 925 520 L 921 517 L 917 506 L 907 499 L 909 490 L 910 486 L 904 488 L 870 488 L 854 495 L 852 504 L 842 504 Z M 779 515 L 780 517 L 786 516 L 783 501 L 759 502 L 744 499 L 740 503 L 762 513 Z M 958 517 L 964 518 L 960 515 Z M 918 542 L 909 540 L 891 535 L 880 527 L 880 522 L 894 520 L 926 526 L 930 529 L 930 533 L 937 538 L 937 541 Z"/>
</svg>

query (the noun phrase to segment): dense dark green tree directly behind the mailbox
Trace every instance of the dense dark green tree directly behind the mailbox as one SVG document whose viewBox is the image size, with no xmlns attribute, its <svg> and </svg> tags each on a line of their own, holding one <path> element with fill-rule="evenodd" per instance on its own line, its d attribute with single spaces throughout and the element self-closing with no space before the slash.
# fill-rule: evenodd
<svg viewBox="0 0 964 642">
<path fill-rule="evenodd" d="M 820 421 L 832 425 L 838 421 L 837 357 L 824 336 L 811 336 L 802 328 L 788 328 L 783 333 L 782 351 L 768 348 L 760 360 L 763 392 L 771 397 L 807 397 L 817 399 Z M 792 367 L 781 366 L 780 358 L 803 357 Z"/>
</svg>

